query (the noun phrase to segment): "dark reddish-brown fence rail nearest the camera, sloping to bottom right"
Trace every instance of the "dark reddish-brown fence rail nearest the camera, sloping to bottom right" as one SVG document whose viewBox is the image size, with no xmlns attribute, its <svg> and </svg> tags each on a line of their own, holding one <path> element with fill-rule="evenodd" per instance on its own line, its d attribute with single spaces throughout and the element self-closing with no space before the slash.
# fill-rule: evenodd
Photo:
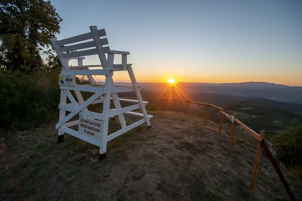
<svg viewBox="0 0 302 201">
<path fill-rule="evenodd" d="M 280 178 L 280 180 L 281 180 L 281 182 L 282 182 L 282 184 L 283 184 L 283 186 L 284 186 L 284 188 L 285 188 L 285 190 L 286 190 L 288 196 L 291 198 L 292 201 L 295 201 L 296 198 L 295 198 L 293 192 L 291 191 L 291 188 L 289 187 L 289 185 L 288 185 L 286 179 L 284 178 L 284 176 L 283 176 L 283 174 L 282 174 L 282 172 L 281 172 L 281 170 L 280 170 L 280 168 L 279 168 L 277 162 L 275 161 L 273 155 L 272 155 L 271 152 L 269 151 L 269 149 L 268 149 L 268 147 L 267 147 L 265 141 L 262 141 L 262 142 L 261 142 L 261 146 L 262 146 L 263 150 L 265 151 L 265 153 L 266 153 L 268 159 L 271 161 L 271 164 L 272 164 L 273 167 L 275 168 L 275 171 L 277 172 L 277 174 L 278 174 L 278 176 L 279 176 L 279 178 Z"/>
</svg>

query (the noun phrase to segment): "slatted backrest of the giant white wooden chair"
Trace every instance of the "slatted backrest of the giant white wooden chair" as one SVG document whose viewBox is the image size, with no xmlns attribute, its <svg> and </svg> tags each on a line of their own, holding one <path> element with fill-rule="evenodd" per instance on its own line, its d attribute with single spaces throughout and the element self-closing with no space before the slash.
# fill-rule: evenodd
<svg viewBox="0 0 302 201">
<path fill-rule="evenodd" d="M 107 38 L 102 38 L 102 39 L 100 38 L 106 36 L 105 29 L 98 30 L 96 26 L 90 26 L 89 28 L 91 31 L 89 33 L 84 33 L 78 36 L 73 36 L 62 40 L 56 40 L 56 38 L 50 39 L 53 48 L 56 51 L 56 54 L 58 55 L 58 58 L 63 66 L 63 70 L 69 70 L 68 67 L 69 58 L 77 58 L 77 57 L 88 56 L 88 55 L 98 55 L 102 67 L 106 68 L 107 58 L 105 53 L 108 53 L 110 51 L 109 46 L 106 46 L 109 43 Z M 82 42 L 89 39 L 93 39 L 93 41 Z M 82 42 L 82 43 L 78 43 L 78 42 Z M 78 43 L 78 44 L 69 45 L 73 43 Z M 87 48 L 92 48 L 92 49 L 87 49 Z M 87 49 L 87 50 L 82 50 L 82 49 Z M 75 52 L 70 52 L 70 51 L 75 51 Z"/>
</svg>

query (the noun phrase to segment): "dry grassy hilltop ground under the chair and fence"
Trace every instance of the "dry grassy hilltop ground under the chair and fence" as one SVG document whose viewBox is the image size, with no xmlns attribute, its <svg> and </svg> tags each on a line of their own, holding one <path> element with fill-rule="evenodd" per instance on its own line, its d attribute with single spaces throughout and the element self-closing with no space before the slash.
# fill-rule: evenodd
<svg viewBox="0 0 302 201">
<path fill-rule="evenodd" d="M 191 115 L 152 112 L 141 125 L 108 143 L 107 156 L 66 134 L 57 144 L 54 122 L 1 133 L 1 200 L 282 200 L 289 199 L 262 155 L 256 189 L 249 190 L 257 141 Z M 128 122 L 131 123 L 131 120 Z M 118 121 L 117 121 L 118 122 Z M 119 126 L 111 122 L 112 130 Z M 296 198 L 301 186 L 284 171 Z"/>
</svg>

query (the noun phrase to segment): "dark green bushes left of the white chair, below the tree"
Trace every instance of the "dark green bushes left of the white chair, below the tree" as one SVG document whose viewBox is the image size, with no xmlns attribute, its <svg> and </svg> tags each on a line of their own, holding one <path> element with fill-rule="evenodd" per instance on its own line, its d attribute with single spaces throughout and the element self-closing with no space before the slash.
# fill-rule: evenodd
<svg viewBox="0 0 302 201">
<path fill-rule="evenodd" d="M 56 74 L 23 74 L 0 69 L 0 128 L 25 129 L 58 117 Z"/>
</svg>

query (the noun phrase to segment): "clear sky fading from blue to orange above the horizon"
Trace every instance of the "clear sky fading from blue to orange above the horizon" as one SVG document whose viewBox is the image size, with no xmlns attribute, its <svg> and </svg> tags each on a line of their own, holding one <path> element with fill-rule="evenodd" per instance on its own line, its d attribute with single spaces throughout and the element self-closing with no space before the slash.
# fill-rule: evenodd
<svg viewBox="0 0 302 201">
<path fill-rule="evenodd" d="M 302 86 L 302 1 L 51 2 L 58 39 L 105 28 L 111 49 L 130 52 L 137 81 Z"/>
</svg>

